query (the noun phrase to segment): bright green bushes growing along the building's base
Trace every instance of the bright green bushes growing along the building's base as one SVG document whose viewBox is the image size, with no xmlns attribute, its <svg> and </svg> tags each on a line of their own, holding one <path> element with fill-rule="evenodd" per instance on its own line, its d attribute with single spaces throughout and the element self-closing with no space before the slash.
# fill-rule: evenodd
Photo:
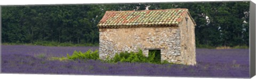
<svg viewBox="0 0 256 79">
<path fill-rule="evenodd" d="M 142 54 L 142 50 L 138 52 L 120 52 L 116 54 L 113 58 L 107 57 L 105 60 L 99 58 L 98 50 L 92 51 L 88 50 L 86 52 L 82 51 L 74 51 L 72 55 L 67 54 L 67 57 L 51 57 L 50 60 L 60 60 L 60 61 L 68 61 L 68 60 L 101 60 L 105 63 L 151 63 L 151 64 L 173 64 L 169 63 L 166 60 L 161 62 L 161 57 L 156 57 L 156 52 L 149 52 L 149 56 L 146 57 Z"/>
</svg>

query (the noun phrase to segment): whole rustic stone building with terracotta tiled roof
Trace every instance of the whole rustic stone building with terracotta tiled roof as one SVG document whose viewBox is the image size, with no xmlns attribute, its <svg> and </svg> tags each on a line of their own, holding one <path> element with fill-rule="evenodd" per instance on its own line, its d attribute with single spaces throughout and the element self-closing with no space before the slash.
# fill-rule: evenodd
<svg viewBox="0 0 256 79">
<path fill-rule="evenodd" d="M 186 8 L 107 11 L 98 24 L 99 55 L 159 50 L 161 61 L 196 65 L 195 25 Z"/>
</svg>

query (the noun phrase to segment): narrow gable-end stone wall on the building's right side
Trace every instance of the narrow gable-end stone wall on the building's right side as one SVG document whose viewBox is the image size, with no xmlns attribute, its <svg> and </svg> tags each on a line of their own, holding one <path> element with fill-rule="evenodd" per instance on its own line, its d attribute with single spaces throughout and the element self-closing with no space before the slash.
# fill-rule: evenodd
<svg viewBox="0 0 256 79">
<path fill-rule="evenodd" d="M 195 25 L 187 14 L 179 24 L 181 33 L 181 63 L 196 65 Z"/>
</svg>

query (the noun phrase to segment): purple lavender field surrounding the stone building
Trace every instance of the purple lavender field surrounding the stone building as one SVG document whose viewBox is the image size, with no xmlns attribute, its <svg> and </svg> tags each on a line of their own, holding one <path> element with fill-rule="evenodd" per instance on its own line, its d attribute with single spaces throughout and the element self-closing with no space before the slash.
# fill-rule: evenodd
<svg viewBox="0 0 256 79">
<path fill-rule="evenodd" d="M 191 76 L 249 78 L 249 49 L 196 49 L 196 66 L 102 63 L 99 60 L 60 62 L 50 57 L 71 55 L 99 47 L 1 46 L 1 72 L 127 76 Z"/>
</svg>

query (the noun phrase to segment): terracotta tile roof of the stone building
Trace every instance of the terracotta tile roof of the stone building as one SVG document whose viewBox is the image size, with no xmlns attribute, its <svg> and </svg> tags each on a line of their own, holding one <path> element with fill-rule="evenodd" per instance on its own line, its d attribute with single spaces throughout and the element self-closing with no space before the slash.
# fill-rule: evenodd
<svg viewBox="0 0 256 79">
<path fill-rule="evenodd" d="M 100 20 L 98 27 L 178 26 L 186 13 L 188 13 L 187 8 L 148 11 L 107 11 Z"/>
</svg>

